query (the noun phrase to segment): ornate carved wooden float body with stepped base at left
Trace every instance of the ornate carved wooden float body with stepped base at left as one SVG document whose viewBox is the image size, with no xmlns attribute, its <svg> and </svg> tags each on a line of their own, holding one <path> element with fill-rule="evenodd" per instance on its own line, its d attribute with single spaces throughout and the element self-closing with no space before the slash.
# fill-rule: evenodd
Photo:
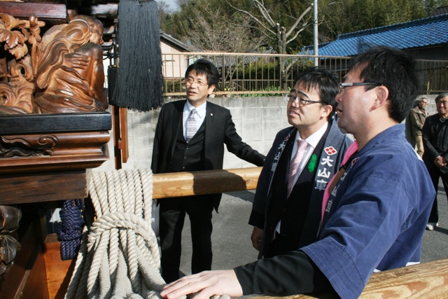
<svg viewBox="0 0 448 299">
<path fill-rule="evenodd" d="M 109 160 L 102 23 L 63 4 L 0 8 L 0 204 L 86 197 L 86 169 Z M 41 36 L 34 13 L 60 25 Z M 19 220 L 20 209 L 0 205 L 0 277 L 20 249 L 10 235 Z"/>
</svg>

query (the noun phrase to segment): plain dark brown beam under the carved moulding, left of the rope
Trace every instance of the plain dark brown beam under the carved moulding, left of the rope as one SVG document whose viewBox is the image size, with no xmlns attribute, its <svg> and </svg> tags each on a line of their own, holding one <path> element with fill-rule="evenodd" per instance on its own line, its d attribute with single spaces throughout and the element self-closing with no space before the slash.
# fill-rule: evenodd
<svg viewBox="0 0 448 299">
<path fill-rule="evenodd" d="M 0 204 L 48 202 L 87 197 L 85 170 L 0 176 Z"/>
</svg>

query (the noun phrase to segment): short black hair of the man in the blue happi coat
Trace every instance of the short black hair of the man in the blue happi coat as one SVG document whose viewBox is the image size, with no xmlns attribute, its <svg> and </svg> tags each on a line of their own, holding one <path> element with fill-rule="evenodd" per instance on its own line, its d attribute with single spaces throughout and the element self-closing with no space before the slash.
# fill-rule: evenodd
<svg viewBox="0 0 448 299">
<path fill-rule="evenodd" d="M 379 82 L 388 89 L 389 116 L 401 123 L 420 92 L 423 77 L 416 61 L 397 48 L 374 46 L 355 57 L 349 71 L 356 68 L 362 68 L 360 79 L 364 82 Z M 365 90 L 373 88 L 365 86 Z"/>
</svg>

